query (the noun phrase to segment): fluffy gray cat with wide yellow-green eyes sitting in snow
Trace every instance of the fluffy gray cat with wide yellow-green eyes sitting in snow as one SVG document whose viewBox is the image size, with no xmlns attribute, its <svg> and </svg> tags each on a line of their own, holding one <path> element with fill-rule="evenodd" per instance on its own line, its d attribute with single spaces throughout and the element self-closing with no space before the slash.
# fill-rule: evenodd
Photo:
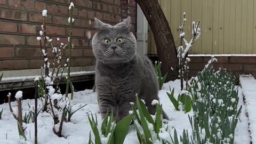
<svg viewBox="0 0 256 144">
<path fill-rule="evenodd" d="M 115 121 L 129 114 L 130 102 L 145 100 L 151 115 L 156 112 L 151 102 L 158 100 L 158 82 L 153 64 L 145 55 L 136 53 L 136 39 L 130 32 L 128 17 L 115 26 L 95 18 L 98 28 L 92 38 L 95 58 L 95 86 L 102 118 L 113 110 Z M 168 119 L 163 112 L 163 117 Z"/>
</svg>

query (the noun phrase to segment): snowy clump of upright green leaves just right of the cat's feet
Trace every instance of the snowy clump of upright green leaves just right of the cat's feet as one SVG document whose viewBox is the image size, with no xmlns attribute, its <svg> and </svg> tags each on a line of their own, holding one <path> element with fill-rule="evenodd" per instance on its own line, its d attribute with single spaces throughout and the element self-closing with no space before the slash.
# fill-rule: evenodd
<svg viewBox="0 0 256 144">
<path fill-rule="evenodd" d="M 145 103 L 137 96 L 137 108 L 132 103 L 133 122 L 137 129 L 137 137 L 140 143 L 170 143 L 166 138 L 166 133 L 170 127 L 164 128 L 162 120 L 162 105 L 157 100 L 152 104 L 156 106 L 156 115 L 151 116 Z M 154 117 L 154 118 L 153 118 Z M 170 135 L 167 135 L 168 137 Z M 170 138 L 170 137 L 169 137 Z"/>
</svg>

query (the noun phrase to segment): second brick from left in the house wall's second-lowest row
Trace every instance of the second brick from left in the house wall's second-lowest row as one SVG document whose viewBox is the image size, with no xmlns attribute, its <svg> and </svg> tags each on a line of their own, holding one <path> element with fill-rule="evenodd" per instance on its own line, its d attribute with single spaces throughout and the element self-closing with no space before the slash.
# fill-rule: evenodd
<svg viewBox="0 0 256 144">
<path fill-rule="evenodd" d="M 21 47 L 16 48 L 16 57 L 27 58 L 27 57 L 42 57 L 40 47 L 37 48 L 27 48 Z"/>
</svg>

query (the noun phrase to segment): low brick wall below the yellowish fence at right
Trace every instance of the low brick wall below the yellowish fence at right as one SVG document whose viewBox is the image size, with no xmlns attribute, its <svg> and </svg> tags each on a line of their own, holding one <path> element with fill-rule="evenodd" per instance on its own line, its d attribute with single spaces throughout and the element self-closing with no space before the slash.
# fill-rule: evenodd
<svg viewBox="0 0 256 144">
<path fill-rule="evenodd" d="M 214 69 L 226 68 L 231 70 L 236 76 L 236 84 L 239 82 L 239 75 L 252 74 L 256 76 L 256 57 L 215 57 L 218 62 L 213 65 Z M 190 57 L 189 77 L 196 76 L 199 70 L 203 70 L 204 65 L 211 57 Z"/>
</svg>

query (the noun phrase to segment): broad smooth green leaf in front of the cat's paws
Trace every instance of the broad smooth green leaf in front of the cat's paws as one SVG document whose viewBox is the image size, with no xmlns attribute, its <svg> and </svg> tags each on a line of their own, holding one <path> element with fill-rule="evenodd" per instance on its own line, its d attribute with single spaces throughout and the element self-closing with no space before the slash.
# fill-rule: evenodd
<svg viewBox="0 0 256 144">
<path fill-rule="evenodd" d="M 129 131 L 132 121 L 132 115 L 124 117 L 115 126 L 115 143 L 124 143 L 125 137 Z"/>
</svg>

